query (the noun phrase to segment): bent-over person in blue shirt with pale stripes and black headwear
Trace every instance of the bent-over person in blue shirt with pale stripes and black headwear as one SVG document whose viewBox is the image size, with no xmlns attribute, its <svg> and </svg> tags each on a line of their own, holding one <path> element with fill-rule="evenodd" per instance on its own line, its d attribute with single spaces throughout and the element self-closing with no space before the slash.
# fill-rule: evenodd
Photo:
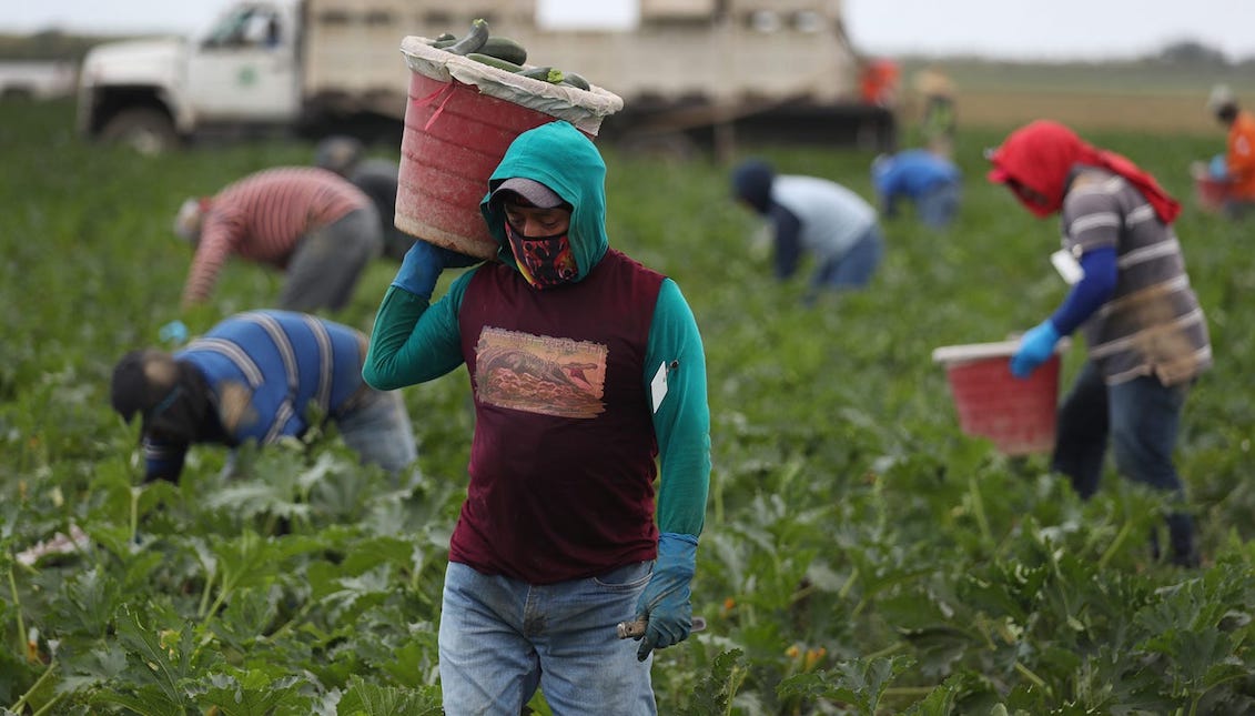
<svg viewBox="0 0 1255 716">
<path fill-rule="evenodd" d="M 143 420 L 146 482 L 177 482 L 193 443 L 300 438 L 311 415 L 334 421 L 363 461 L 397 474 L 418 457 L 414 432 L 399 393 L 363 382 L 366 347 L 361 332 L 314 315 L 241 313 L 173 353 L 123 355 L 110 402 L 127 422 Z"/>
</svg>

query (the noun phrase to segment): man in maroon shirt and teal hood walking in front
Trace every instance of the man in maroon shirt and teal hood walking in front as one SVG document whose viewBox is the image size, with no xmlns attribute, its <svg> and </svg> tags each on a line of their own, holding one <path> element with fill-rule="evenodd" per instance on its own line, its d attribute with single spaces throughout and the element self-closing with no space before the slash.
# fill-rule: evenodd
<svg viewBox="0 0 1255 716">
<path fill-rule="evenodd" d="M 654 649 L 689 637 L 710 476 L 705 357 L 671 279 L 610 247 L 606 166 L 553 121 L 481 191 L 492 261 L 417 241 L 363 371 L 379 389 L 466 364 L 469 485 L 449 543 L 439 668 L 451 715 L 655 713 Z M 659 480 L 655 494 L 654 482 Z M 639 641 L 616 624 L 645 621 Z"/>
</svg>

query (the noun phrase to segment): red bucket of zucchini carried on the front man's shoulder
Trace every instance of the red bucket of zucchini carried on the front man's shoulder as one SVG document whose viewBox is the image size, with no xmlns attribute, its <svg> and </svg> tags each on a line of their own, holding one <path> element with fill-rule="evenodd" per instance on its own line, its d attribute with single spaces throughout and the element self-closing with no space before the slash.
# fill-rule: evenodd
<svg viewBox="0 0 1255 716">
<path fill-rule="evenodd" d="M 510 143 L 555 119 L 595 137 L 602 118 L 622 109 L 622 98 L 596 85 L 584 90 L 522 77 L 428 43 L 409 36 L 400 46 L 410 82 L 394 221 L 412 236 L 493 259 L 497 242 L 479 201 Z"/>
</svg>

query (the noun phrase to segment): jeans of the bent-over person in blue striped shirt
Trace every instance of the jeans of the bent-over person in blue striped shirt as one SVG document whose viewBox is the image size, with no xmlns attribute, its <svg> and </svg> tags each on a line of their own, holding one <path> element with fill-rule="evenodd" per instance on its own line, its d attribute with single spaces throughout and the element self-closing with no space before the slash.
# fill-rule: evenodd
<svg viewBox="0 0 1255 716">
<path fill-rule="evenodd" d="M 398 391 L 370 391 L 335 421 L 345 445 L 364 462 L 398 474 L 418 457 L 414 428 Z"/>
</svg>

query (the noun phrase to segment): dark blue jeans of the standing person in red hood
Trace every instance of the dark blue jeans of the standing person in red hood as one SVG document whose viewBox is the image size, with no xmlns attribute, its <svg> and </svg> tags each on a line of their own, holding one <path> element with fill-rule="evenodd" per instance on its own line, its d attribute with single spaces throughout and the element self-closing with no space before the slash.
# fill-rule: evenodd
<svg viewBox="0 0 1255 716">
<path fill-rule="evenodd" d="M 1188 383 L 1165 386 L 1143 376 L 1107 386 L 1098 367 L 1087 361 L 1059 406 L 1053 467 L 1072 479 L 1082 499 L 1098 491 L 1108 438 L 1121 475 L 1185 497 L 1185 485 L 1172 464 Z M 1172 548 L 1192 551 L 1194 521 L 1188 514 L 1168 516 Z"/>
</svg>

